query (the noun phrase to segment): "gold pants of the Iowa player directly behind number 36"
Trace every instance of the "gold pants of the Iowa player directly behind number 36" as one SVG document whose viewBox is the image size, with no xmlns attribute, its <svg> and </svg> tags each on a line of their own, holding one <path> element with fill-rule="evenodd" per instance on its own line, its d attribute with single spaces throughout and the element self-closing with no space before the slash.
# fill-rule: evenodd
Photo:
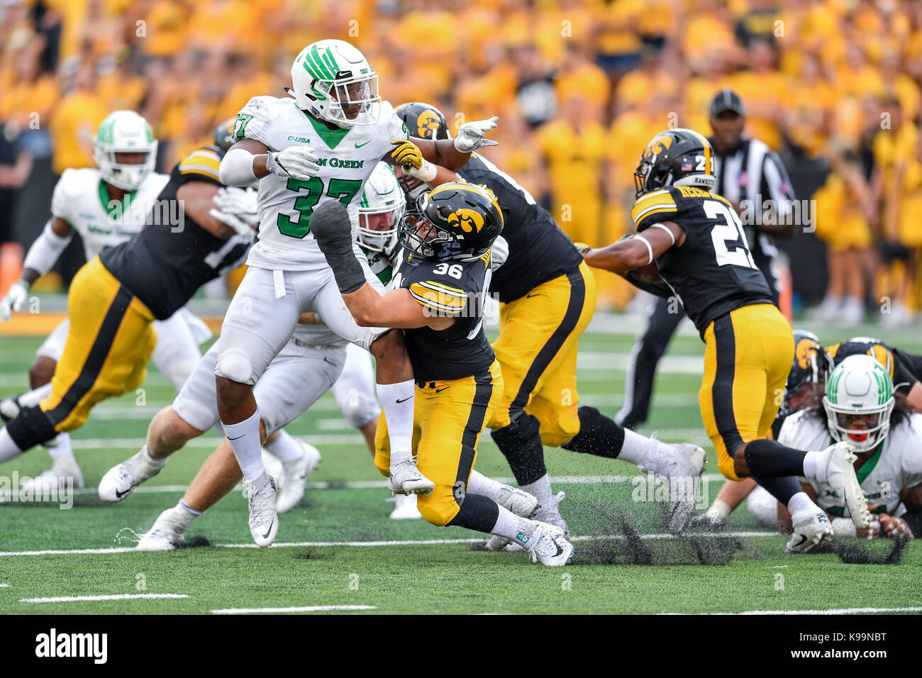
<svg viewBox="0 0 922 678">
<path fill-rule="evenodd" d="M 493 343 L 505 387 L 491 429 L 525 410 L 540 424 L 541 442 L 557 447 L 579 433 L 576 342 L 596 309 L 596 280 L 583 263 L 503 303 Z"/>
</svg>

